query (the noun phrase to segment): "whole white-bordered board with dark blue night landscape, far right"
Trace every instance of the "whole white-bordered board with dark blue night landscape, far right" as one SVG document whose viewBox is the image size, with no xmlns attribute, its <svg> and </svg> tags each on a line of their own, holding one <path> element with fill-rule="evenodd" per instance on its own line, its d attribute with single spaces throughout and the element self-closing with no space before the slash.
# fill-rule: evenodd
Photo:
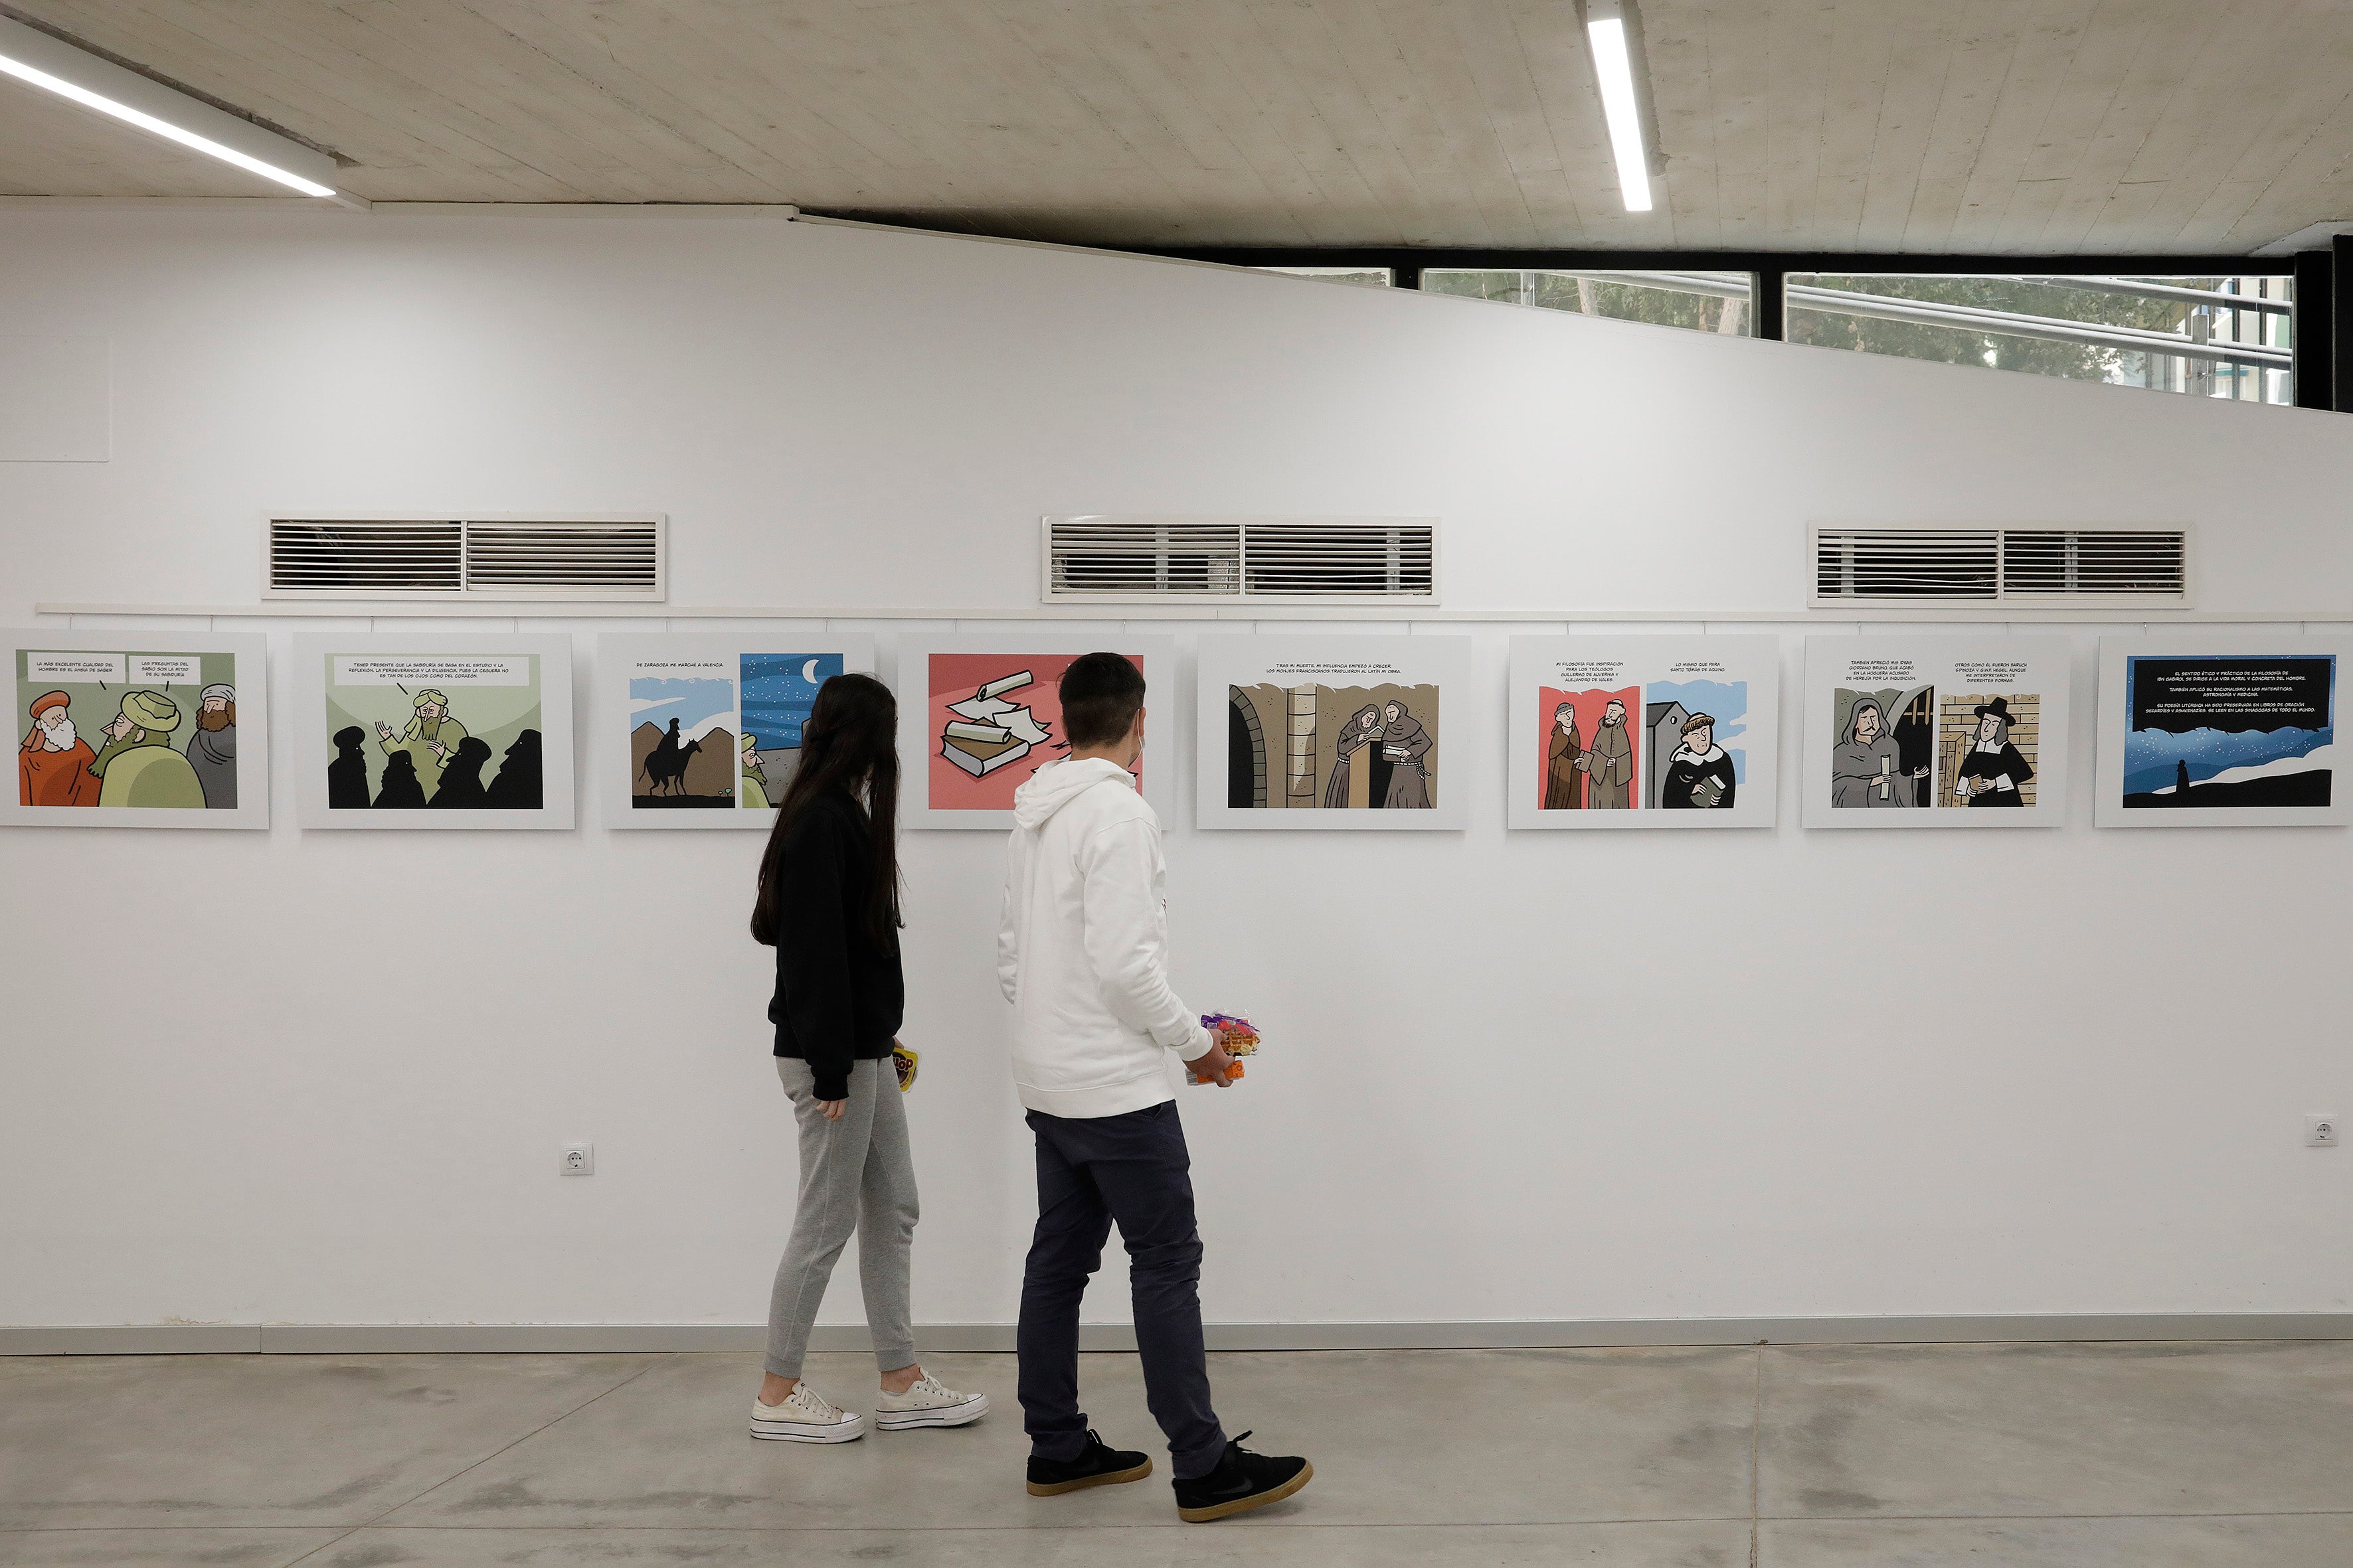
<svg viewBox="0 0 2353 1568">
<path fill-rule="evenodd" d="M 2101 827 L 2341 827 L 2337 677 L 2353 639 L 2101 637 Z"/>
</svg>

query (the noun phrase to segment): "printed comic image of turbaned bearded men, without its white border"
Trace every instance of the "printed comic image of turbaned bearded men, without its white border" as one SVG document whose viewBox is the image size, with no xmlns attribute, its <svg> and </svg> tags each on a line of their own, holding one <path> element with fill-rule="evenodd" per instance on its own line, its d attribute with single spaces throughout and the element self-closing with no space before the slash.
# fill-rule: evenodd
<svg viewBox="0 0 2353 1568">
<path fill-rule="evenodd" d="M 16 649 L 19 806 L 238 809 L 238 656 Z"/>
</svg>

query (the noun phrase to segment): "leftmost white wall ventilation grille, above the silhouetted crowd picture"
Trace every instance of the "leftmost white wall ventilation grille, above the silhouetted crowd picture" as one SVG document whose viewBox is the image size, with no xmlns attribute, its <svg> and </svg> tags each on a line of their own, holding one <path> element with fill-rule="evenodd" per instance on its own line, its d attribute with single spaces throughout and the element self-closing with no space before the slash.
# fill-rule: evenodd
<svg viewBox="0 0 2353 1568">
<path fill-rule="evenodd" d="M 664 597 L 661 517 L 273 517 L 271 599 Z"/>
</svg>

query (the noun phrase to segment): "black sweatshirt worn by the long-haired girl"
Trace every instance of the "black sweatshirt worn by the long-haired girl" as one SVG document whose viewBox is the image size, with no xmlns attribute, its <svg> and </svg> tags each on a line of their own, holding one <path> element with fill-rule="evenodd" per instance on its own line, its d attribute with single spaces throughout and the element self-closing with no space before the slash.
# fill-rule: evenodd
<svg viewBox="0 0 2353 1568">
<path fill-rule="evenodd" d="M 776 1056 L 809 1063 L 819 1100 L 849 1095 L 849 1065 L 889 1056 L 906 1013 L 899 936 L 866 926 L 873 889 L 866 809 L 842 790 L 814 799 L 776 856 Z"/>
</svg>

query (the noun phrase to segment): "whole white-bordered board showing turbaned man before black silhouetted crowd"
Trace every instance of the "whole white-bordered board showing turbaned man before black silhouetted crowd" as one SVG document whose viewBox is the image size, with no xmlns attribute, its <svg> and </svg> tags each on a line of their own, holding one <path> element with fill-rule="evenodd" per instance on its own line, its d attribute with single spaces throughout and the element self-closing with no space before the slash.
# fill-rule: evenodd
<svg viewBox="0 0 2353 1568">
<path fill-rule="evenodd" d="M 304 827 L 572 827 L 572 639 L 294 637 Z"/>
</svg>

